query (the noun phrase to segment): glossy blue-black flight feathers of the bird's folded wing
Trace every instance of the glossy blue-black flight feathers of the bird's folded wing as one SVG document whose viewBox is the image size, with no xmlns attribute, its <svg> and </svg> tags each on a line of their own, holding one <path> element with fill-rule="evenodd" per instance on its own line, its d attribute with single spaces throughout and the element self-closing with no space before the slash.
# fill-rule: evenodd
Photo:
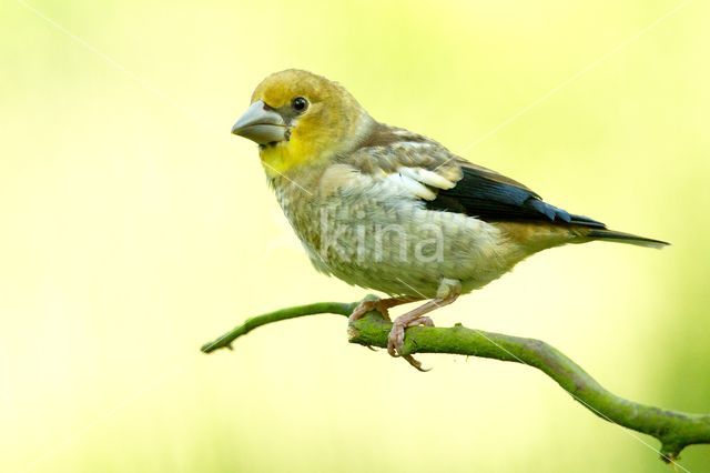
<svg viewBox="0 0 710 473">
<path fill-rule="evenodd" d="M 440 190 L 427 202 L 429 210 L 465 213 L 485 221 L 545 221 L 605 229 L 606 225 L 584 215 L 575 215 L 544 202 L 531 190 L 510 181 L 494 179 L 476 168 L 462 165 L 463 178 L 456 187 Z M 503 178 L 503 177 L 501 177 Z"/>
</svg>

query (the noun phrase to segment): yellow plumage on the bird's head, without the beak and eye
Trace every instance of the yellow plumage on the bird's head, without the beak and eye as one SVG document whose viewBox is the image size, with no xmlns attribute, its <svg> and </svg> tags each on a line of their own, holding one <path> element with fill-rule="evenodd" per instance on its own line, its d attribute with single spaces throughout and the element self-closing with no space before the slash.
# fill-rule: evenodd
<svg viewBox="0 0 710 473">
<path fill-rule="evenodd" d="M 252 103 L 262 100 L 287 114 L 298 97 L 308 104 L 302 113 L 292 113 L 288 140 L 261 147 L 268 173 L 286 173 L 300 164 L 328 159 L 357 142 L 372 122 L 341 84 L 297 69 L 264 79 L 252 94 Z"/>
</svg>

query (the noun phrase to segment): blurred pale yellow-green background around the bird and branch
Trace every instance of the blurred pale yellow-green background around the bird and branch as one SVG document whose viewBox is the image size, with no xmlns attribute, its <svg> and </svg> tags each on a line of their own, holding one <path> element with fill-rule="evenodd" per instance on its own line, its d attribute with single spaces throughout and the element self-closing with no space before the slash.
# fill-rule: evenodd
<svg viewBox="0 0 710 473">
<path fill-rule="evenodd" d="M 677 0 L 2 2 L 0 471 L 669 471 L 529 368 L 423 355 L 422 374 L 341 318 L 199 348 L 365 293 L 315 273 L 229 132 L 297 67 L 673 243 L 539 254 L 439 325 L 540 338 L 620 395 L 710 412 L 709 21 Z M 681 464 L 710 471 L 710 447 Z"/>
</svg>

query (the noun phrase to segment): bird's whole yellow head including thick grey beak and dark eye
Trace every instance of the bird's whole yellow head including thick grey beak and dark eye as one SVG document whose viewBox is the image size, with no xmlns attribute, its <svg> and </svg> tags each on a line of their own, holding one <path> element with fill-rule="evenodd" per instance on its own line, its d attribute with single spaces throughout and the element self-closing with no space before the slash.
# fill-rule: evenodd
<svg viewBox="0 0 710 473">
<path fill-rule="evenodd" d="M 267 172 L 322 161 L 353 147 L 372 119 L 341 84 L 297 69 L 268 76 L 232 133 L 260 145 Z"/>
</svg>

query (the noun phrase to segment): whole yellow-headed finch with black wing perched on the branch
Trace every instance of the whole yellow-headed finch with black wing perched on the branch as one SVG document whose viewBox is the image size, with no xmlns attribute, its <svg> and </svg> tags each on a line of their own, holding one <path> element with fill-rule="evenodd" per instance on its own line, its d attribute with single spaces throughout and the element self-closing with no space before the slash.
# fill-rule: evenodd
<svg viewBox="0 0 710 473">
<path fill-rule="evenodd" d="M 300 69 L 267 76 L 232 133 L 258 144 L 268 185 L 316 270 L 386 298 L 351 321 L 418 302 L 396 318 L 387 351 L 427 315 L 525 260 L 568 243 L 667 242 L 610 230 L 443 144 L 372 118 L 338 82 Z"/>
</svg>

